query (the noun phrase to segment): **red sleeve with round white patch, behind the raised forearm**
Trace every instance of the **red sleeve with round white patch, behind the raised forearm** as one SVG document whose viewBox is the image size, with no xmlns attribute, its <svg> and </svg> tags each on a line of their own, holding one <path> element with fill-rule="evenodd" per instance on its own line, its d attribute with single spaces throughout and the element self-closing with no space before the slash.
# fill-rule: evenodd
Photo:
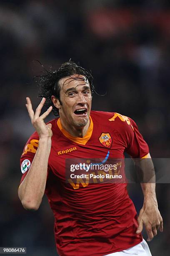
<svg viewBox="0 0 170 256">
<path fill-rule="evenodd" d="M 20 157 L 20 168 L 23 174 L 20 183 L 23 181 L 23 179 L 28 173 L 28 170 L 30 169 L 30 166 L 32 164 L 32 161 L 38 148 L 38 142 L 39 137 L 36 136 L 36 133 L 34 133 L 25 144 L 23 154 Z"/>
</svg>

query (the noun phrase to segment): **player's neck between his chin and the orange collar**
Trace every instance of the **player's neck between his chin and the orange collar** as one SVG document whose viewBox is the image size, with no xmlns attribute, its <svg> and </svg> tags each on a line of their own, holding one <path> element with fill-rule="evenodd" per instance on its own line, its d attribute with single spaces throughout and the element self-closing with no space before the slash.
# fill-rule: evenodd
<svg viewBox="0 0 170 256">
<path fill-rule="evenodd" d="M 69 126 L 67 123 L 64 123 L 63 120 L 60 118 L 60 122 L 62 125 L 62 128 L 65 129 L 70 135 L 74 137 L 84 137 L 87 133 L 87 130 L 90 126 L 90 119 L 88 120 L 87 124 L 85 126 L 75 127 L 75 126 Z"/>
</svg>

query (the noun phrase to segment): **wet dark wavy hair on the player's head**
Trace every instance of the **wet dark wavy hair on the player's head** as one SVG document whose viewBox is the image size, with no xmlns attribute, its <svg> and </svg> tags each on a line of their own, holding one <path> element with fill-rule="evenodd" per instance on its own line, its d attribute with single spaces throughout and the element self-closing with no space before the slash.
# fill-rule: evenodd
<svg viewBox="0 0 170 256">
<path fill-rule="evenodd" d="M 90 84 L 91 93 L 95 92 L 94 80 L 93 80 L 91 71 L 89 72 L 87 69 L 80 67 L 79 65 L 77 65 L 75 62 L 73 62 L 71 60 L 63 63 L 58 70 L 54 70 L 54 69 L 52 69 L 52 67 L 50 67 L 49 70 L 44 68 L 43 74 L 35 77 L 36 82 L 38 83 L 38 86 L 40 87 L 40 92 L 38 94 L 38 97 L 46 98 L 45 106 L 47 108 L 52 106 L 52 111 L 55 116 L 59 116 L 59 111 L 54 106 L 54 104 L 51 100 L 51 96 L 54 95 L 58 100 L 60 100 L 61 87 L 58 82 L 60 79 L 62 79 L 64 77 L 71 76 L 73 74 L 83 75 L 88 80 L 88 82 Z M 77 77 L 77 79 L 85 80 L 80 77 L 79 78 Z"/>
</svg>

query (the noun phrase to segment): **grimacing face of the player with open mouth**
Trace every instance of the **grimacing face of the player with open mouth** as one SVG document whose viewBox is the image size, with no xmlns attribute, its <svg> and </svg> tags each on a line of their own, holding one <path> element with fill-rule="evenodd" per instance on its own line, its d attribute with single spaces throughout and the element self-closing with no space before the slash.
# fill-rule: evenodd
<svg viewBox="0 0 170 256">
<path fill-rule="evenodd" d="M 88 80 L 82 75 L 60 79 L 60 119 L 63 123 L 83 127 L 89 120 L 92 95 Z"/>
</svg>

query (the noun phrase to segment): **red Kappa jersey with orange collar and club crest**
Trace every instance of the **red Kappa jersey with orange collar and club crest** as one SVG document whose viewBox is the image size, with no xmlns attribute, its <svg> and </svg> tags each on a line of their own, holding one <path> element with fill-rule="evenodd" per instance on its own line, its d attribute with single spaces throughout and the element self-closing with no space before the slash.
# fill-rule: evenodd
<svg viewBox="0 0 170 256">
<path fill-rule="evenodd" d="M 55 216 L 54 233 L 61 256 L 103 256 L 135 246 L 137 213 L 126 183 L 92 184 L 65 182 L 69 158 L 133 158 L 149 153 L 135 122 L 118 113 L 91 111 L 90 127 L 83 138 L 62 129 L 60 118 L 52 124 L 52 146 L 48 161 L 45 194 Z M 37 132 L 26 143 L 20 159 L 23 176 L 38 147 Z M 109 151 L 109 153 L 108 153 Z M 24 161 L 25 160 L 25 161 Z"/>
</svg>

